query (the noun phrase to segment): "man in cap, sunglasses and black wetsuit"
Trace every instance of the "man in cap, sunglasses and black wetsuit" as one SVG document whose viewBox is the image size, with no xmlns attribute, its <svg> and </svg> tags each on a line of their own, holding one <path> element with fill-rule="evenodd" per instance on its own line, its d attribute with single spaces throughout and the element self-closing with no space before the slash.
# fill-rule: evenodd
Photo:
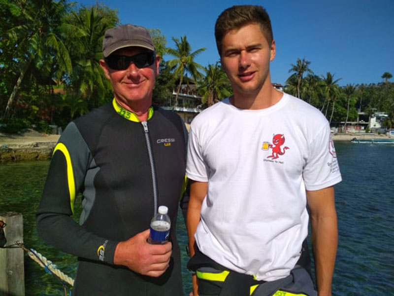
<svg viewBox="0 0 394 296">
<path fill-rule="evenodd" d="M 107 30 L 103 56 L 114 99 L 62 134 L 37 213 L 38 232 L 78 256 L 74 295 L 182 295 L 174 230 L 185 179 L 185 125 L 152 106 L 160 57 L 145 28 Z M 70 217 L 78 192 L 80 224 Z M 148 228 L 160 205 L 168 207 L 173 230 L 170 242 L 151 245 Z"/>
</svg>

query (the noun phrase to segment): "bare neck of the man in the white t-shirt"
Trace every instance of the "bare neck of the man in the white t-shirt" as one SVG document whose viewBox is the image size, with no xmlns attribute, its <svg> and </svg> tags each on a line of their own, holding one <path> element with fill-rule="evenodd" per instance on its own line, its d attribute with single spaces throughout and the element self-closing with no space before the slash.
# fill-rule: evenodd
<svg viewBox="0 0 394 296">
<path fill-rule="evenodd" d="M 277 91 L 271 81 L 264 83 L 262 88 L 255 93 L 244 93 L 234 90 L 234 95 L 230 98 L 230 103 L 239 109 L 261 110 L 269 108 L 280 101 L 283 93 Z"/>
</svg>

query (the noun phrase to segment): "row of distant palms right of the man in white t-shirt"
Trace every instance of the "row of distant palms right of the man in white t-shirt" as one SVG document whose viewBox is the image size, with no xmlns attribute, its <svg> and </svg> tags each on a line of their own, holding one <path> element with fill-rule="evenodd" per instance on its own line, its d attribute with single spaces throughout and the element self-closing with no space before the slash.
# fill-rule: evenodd
<svg viewBox="0 0 394 296">
<path fill-rule="evenodd" d="M 318 108 L 330 123 L 344 123 L 343 130 L 350 121 L 357 121 L 358 112 L 370 116 L 375 111 L 384 111 L 388 118 L 383 125 L 393 126 L 394 83 L 388 81 L 391 73 L 382 74 L 384 81 L 381 83 L 339 86 L 341 77 L 330 72 L 315 75 L 309 65 L 311 62 L 299 58 L 296 64 L 291 64 L 289 72 L 294 73 L 286 81 L 285 92 Z M 303 77 L 306 72 L 309 74 Z"/>
</svg>

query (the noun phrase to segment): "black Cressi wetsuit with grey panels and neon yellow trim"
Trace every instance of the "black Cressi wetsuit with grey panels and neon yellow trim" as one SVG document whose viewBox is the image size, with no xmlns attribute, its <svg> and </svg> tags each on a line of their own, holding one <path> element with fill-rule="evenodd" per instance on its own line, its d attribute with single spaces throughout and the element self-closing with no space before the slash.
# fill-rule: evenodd
<svg viewBox="0 0 394 296">
<path fill-rule="evenodd" d="M 40 236 L 78 256 L 73 293 L 181 296 L 176 215 L 185 179 L 187 132 L 178 115 L 151 107 L 146 126 L 116 103 L 72 121 L 49 168 L 37 212 Z M 80 223 L 71 219 L 82 192 Z M 149 228 L 158 206 L 171 219 L 170 266 L 159 278 L 114 265 L 117 243 Z"/>
</svg>

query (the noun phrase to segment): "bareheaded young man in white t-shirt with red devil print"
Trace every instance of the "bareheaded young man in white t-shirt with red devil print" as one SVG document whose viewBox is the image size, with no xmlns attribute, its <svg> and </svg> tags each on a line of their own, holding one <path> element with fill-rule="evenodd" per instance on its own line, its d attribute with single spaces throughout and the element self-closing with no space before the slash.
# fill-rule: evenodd
<svg viewBox="0 0 394 296">
<path fill-rule="evenodd" d="M 215 37 L 233 96 L 199 114 L 189 134 L 189 267 L 199 295 L 316 295 L 300 259 L 308 204 L 318 295 L 329 296 L 341 176 L 328 121 L 272 87 L 263 7 L 226 9 Z M 194 287 L 197 295 L 196 275 Z"/>
</svg>

